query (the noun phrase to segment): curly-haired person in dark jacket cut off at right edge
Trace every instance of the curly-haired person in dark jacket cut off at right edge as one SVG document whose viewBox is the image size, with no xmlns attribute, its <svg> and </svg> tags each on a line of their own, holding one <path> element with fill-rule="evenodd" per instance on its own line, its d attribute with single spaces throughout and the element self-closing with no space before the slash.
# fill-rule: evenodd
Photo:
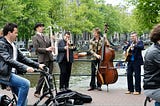
<svg viewBox="0 0 160 106">
<path fill-rule="evenodd" d="M 155 106 L 160 106 L 160 24 L 151 33 L 153 44 L 144 56 L 144 94 L 155 100 Z"/>
</svg>

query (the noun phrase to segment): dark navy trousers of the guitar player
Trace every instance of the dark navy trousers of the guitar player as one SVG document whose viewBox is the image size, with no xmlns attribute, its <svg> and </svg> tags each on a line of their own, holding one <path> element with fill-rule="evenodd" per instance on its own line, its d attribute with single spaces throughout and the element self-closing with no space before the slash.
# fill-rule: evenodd
<svg viewBox="0 0 160 106">
<path fill-rule="evenodd" d="M 135 87 L 133 84 L 133 73 L 135 78 Z M 136 92 L 141 92 L 141 65 L 136 62 L 129 62 L 127 68 L 127 83 L 128 83 L 128 91 L 134 92 L 134 88 Z"/>
</svg>

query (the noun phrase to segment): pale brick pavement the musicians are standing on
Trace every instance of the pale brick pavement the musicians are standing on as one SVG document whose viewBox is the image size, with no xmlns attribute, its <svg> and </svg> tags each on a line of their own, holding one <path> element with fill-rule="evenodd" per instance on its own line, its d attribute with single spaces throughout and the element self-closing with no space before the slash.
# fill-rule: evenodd
<svg viewBox="0 0 160 106">
<path fill-rule="evenodd" d="M 75 80 L 73 77 L 71 80 Z M 106 85 L 102 86 L 102 91 L 87 91 L 88 89 L 88 78 L 84 78 L 83 81 L 71 84 L 71 89 L 78 91 L 83 94 L 90 95 L 92 102 L 84 104 L 83 106 L 143 106 L 145 96 L 124 94 L 126 92 L 126 77 L 119 77 L 115 84 L 109 85 L 109 92 L 107 92 Z M 35 88 L 30 88 L 28 95 L 28 105 L 32 106 L 38 99 L 33 96 Z M 0 94 L 10 95 L 10 91 L 0 89 Z M 11 96 L 11 95 L 10 95 Z M 42 103 L 41 103 L 42 104 Z M 154 106 L 153 102 L 148 103 L 147 106 Z"/>
</svg>

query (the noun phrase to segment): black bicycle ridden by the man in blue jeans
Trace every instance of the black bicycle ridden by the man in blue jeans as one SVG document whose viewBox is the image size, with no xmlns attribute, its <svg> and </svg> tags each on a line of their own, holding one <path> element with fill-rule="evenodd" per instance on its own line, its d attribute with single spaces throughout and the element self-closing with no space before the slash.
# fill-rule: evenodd
<svg viewBox="0 0 160 106">
<path fill-rule="evenodd" d="M 49 68 L 48 67 L 44 67 L 43 70 L 38 70 L 38 69 L 35 69 L 35 72 L 40 72 L 44 75 L 44 80 L 45 80 L 45 83 L 47 85 L 47 92 L 44 93 L 42 96 L 40 96 L 40 98 L 33 104 L 33 106 L 38 106 L 38 104 L 47 96 L 48 98 L 46 99 L 45 98 L 45 101 L 44 103 L 42 104 L 42 106 L 58 106 L 58 102 L 54 99 L 55 95 L 57 94 L 57 88 L 56 88 L 56 82 L 55 82 L 55 78 L 53 76 L 53 80 L 54 80 L 54 88 L 52 89 L 52 85 L 51 85 L 51 80 L 52 80 L 52 75 L 49 73 Z M 54 91 L 56 92 L 54 94 Z M 7 95 L 5 95 L 7 96 Z M 16 98 L 16 94 L 14 94 L 12 92 L 12 96 L 13 98 L 9 98 L 8 96 L 8 100 L 9 100 L 9 103 L 5 106 L 14 106 L 14 104 L 16 105 L 17 104 L 17 98 Z M 6 99 L 7 100 L 7 99 Z"/>
</svg>

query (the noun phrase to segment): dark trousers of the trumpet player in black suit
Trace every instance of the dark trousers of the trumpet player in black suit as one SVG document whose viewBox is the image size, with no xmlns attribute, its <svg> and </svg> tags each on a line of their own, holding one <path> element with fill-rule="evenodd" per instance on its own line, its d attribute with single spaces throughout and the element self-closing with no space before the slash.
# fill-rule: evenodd
<svg viewBox="0 0 160 106">
<path fill-rule="evenodd" d="M 71 76 L 71 68 L 72 68 L 72 63 L 67 62 L 66 60 L 63 60 L 62 62 L 59 63 L 59 68 L 60 68 L 60 87 L 59 89 L 62 88 L 69 88 L 69 79 Z"/>
</svg>

